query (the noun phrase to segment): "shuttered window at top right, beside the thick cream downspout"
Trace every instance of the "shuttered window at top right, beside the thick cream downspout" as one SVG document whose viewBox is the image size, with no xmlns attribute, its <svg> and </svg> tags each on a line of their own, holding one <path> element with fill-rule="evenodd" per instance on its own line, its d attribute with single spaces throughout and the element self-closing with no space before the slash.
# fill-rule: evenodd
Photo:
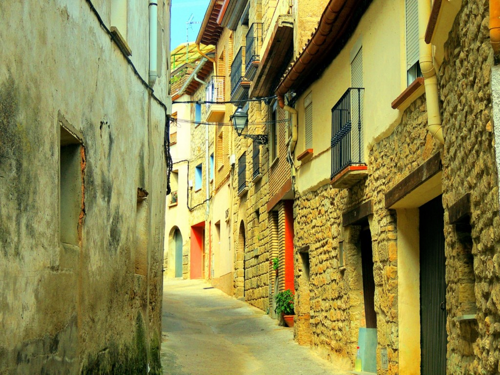
<svg viewBox="0 0 500 375">
<path fill-rule="evenodd" d="M 405 0 L 406 10 L 406 71 L 409 86 L 416 77 L 421 77 L 420 65 L 418 63 L 418 0 Z"/>
</svg>

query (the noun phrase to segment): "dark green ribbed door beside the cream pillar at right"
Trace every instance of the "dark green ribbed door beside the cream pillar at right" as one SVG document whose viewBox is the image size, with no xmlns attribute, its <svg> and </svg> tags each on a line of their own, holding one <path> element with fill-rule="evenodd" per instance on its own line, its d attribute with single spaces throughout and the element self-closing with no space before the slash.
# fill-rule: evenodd
<svg viewBox="0 0 500 375">
<path fill-rule="evenodd" d="M 446 373 L 446 280 L 441 195 L 420 207 L 421 374 Z"/>
</svg>

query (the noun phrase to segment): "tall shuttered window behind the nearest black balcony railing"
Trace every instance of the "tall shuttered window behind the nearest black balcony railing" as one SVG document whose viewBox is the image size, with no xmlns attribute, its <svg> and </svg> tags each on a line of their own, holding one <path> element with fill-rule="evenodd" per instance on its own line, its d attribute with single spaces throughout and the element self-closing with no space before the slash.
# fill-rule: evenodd
<svg viewBox="0 0 500 375">
<path fill-rule="evenodd" d="M 362 47 L 350 63 L 351 86 L 363 87 L 363 53 Z M 352 161 L 363 162 L 363 90 L 351 91 L 351 123 L 352 123 Z M 358 105 L 359 104 L 359 105 Z M 358 126 L 361 126 L 360 131 Z"/>
</svg>

